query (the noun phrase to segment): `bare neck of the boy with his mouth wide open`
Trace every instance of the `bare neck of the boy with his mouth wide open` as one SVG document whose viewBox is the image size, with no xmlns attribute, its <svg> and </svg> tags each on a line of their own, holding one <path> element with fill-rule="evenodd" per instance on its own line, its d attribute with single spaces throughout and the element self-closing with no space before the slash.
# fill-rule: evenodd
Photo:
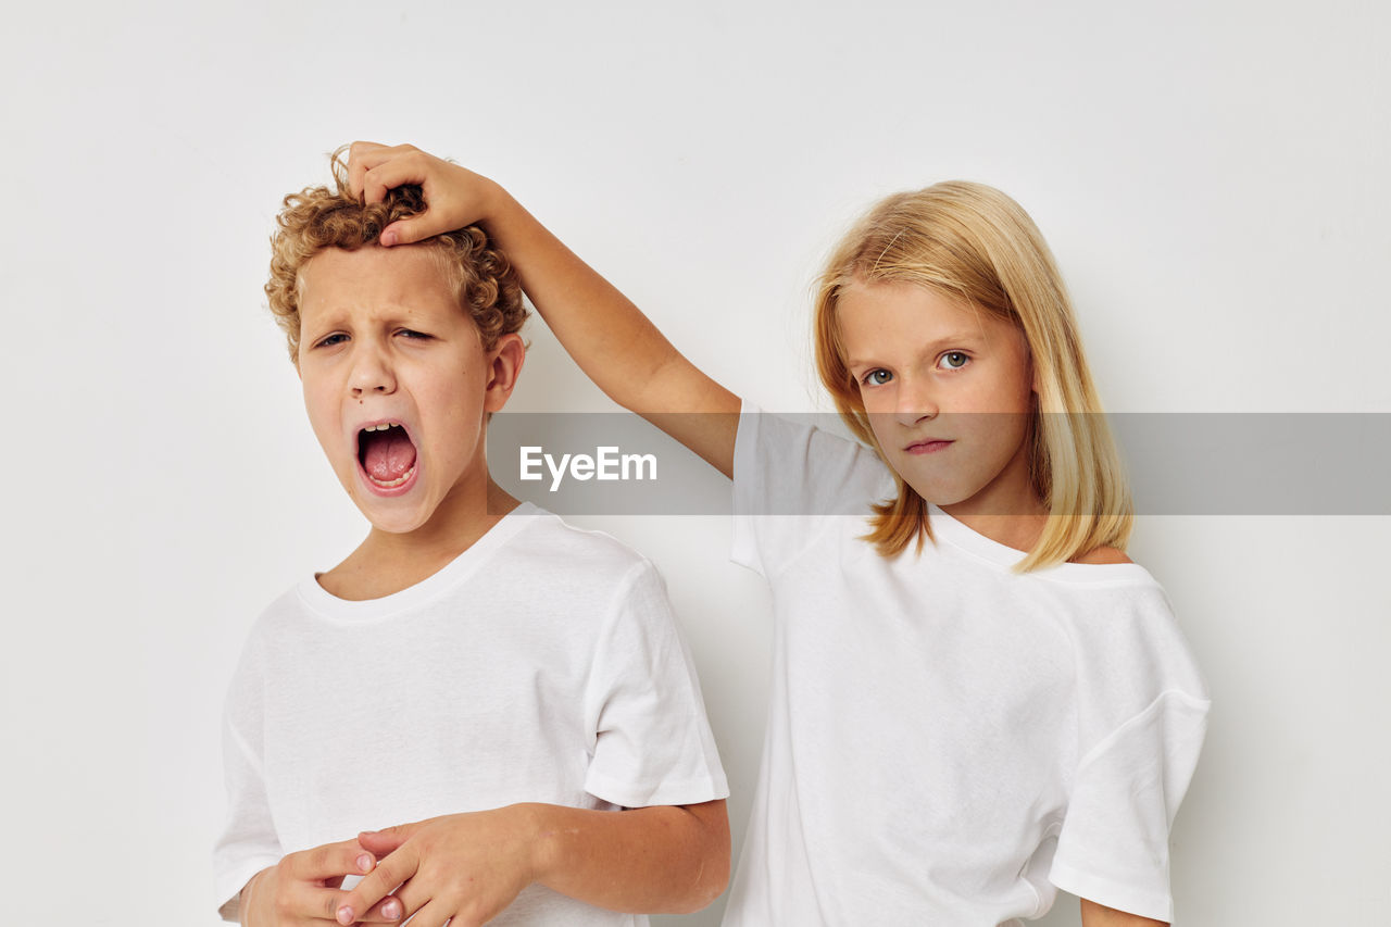
<svg viewBox="0 0 1391 927">
<path fill-rule="evenodd" d="M 339 599 L 360 601 L 428 579 L 520 504 L 491 477 L 480 490 L 445 498 L 434 516 L 413 532 L 396 534 L 373 528 L 344 562 L 319 575 L 319 585 Z"/>
</svg>

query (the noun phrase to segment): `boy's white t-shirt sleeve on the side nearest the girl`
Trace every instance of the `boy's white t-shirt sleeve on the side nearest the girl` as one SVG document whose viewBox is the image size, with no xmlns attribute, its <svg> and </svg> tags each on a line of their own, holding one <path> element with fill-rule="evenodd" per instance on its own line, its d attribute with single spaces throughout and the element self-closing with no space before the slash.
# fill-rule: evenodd
<svg viewBox="0 0 1391 927">
<path fill-rule="evenodd" d="M 729 796 L 696 665 L 647 561 L 619 585 L 584 697 L 594 732 L 586 792 L 622 807 Z"/>
</svg>

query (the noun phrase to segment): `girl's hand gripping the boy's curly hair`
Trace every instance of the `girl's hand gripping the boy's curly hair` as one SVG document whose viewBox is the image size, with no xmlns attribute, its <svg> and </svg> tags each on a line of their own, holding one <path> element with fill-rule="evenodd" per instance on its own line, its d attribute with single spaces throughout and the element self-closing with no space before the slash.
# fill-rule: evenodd
<svg viewBox="0 0 1391 927">
<path fill-rule="evenodd" d="M 383 228 L 381 244 L 387 248 L 480 223 L 488 217 L 492 200 L 501 192 L 488 178 L 426 154 L 413 145 L 388 148 L 376 142 L 353 142 L 348 149 L 348 187 L 363 202 L 380 203 L 387 191 L 402 184 L 419 184 L 428 209 Z"/>
</svg>

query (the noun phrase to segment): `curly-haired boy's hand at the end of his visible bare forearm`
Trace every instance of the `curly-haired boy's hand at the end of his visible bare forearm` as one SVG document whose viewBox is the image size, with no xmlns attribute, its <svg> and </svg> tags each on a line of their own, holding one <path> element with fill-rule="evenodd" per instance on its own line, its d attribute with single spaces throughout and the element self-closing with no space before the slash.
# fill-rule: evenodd
<svg viewBox="0 0 1391 927">
<path fill-rule="evenodd" d="M 381 862 L 348 894 L 338 923 L 378 910 L 388 892 L 401 899 L 403 916 L 415 914 L 412 927 L 487 923 L 534 881 L 524 811 L 510 806 L 360 834 L 357 842 Z"/>
</svg>

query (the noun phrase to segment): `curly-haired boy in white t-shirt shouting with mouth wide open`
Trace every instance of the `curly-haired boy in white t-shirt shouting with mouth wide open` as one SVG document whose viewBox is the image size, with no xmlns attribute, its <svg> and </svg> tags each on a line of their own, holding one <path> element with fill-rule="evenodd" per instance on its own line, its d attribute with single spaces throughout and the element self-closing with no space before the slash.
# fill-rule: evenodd
<svg viewBox="0 0 1391 927">
<path fill-rule="evenodd" d="M 242 654 L 223 916 L 641 924 L 613 912 L 705 906 L 729 877 L 727 789 L 661 579 L 488 475 L 487 418 L 526 352 L 506 258 L 473 227 L 381 248 L 420 189 L 364 206 L 338 156 L 334 173 L 337 191 L 285 198 L 266 291 L 371 529 Z"/>
</svg>

